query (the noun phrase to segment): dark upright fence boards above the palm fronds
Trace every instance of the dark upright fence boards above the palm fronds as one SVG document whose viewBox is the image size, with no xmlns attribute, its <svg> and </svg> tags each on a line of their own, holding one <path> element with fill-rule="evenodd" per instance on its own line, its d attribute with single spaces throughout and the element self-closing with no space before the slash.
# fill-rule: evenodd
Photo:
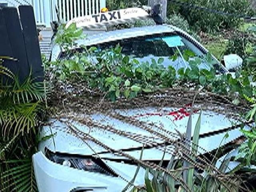
<svg viewBox="0 0 256 192">
<path fill-rule="evenodd" d="M 5 61 L 23 81 L 32 72 L 36 81 L 44 79 L 36 22 L 32 6 L 0 8 L 0 56 L 11 56 L 17 62 Z"/>
</svg>

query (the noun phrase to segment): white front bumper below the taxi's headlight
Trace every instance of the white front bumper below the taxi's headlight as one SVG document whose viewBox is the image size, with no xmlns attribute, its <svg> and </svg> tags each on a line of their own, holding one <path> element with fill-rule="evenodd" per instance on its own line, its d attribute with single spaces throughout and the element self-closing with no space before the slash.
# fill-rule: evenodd
<svg viewBox="0 0 256 192">
<path fill-rule="evenodd" d="M 120 192 L 127 184 L 118 177 L 56 164 L 42 152 L 33 155 L 33 166 L 39 192 Z"/>
</svg>

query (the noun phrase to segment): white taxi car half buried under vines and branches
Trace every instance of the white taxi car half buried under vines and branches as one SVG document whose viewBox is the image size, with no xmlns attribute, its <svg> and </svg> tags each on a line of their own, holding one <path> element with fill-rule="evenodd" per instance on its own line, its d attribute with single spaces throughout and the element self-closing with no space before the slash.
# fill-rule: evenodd
<svg viewBox="0 0 256 192">
<path fill-rule="evenodd" d="M 78 41 L 85 46 L 96 46 L 105 49 L 117 43 L 122 46 L 122 53 L 139 61 L 151 61 L 152 58 L 164 58 L 163 65 L 172 65 L 180 68 L 186 65 L 182 54 L 175 61 L 168 60 L 174 53 L 189 49 L 196 55 L 205 55 L 208 51 L 192 36 L 170 25 L 144 26 L 139 28 L 122 29 L 110 32 L 92 34 L 85 40 Z M 54 46 L 52 60 L 63 56 L 60 48 Z M 216 60 L 220 72 L 227 72 L 226 68 Z M 166 96 L 163 94 L 163 97 Z M 216 102 L 217 103 L 217 102 Z M 137 164 L 130 158 L 115 154 L 113 151 L 101 146 L 97 141 L 104 143 L 114 151 L 122 150 L 125 154 L 139 159 L 143 142 L 132 139 L 132 135 L 151 141 L 155 146 L 145 147 L 142 160 L 159 163 L 163 156 L 164 140 L 160 134 L 178 139 L 175 133 L 186 132 L 189 107 L 182 103 L 165 105 L 163 107 L 148 104 L 135 108 L 115 109 L 108 113 L 76 114 L 84 119 L 90 119 L 94 127 L 81 122 L 71 122 L 68 118 L 61 120 L 51 119 L 48 126 L 42 127 L 41 135 L 51 138 L 43 140 L 39 144 L 39 152 L 33 156 L 34 171 L 40 192 L 120 192 L 132 180 Z M 220 110 L 225 110 L 221 108 Z M 199 112 L 192 115 L 192 135 Z M 122 120 L 123 117 L 125 120 Z M 129 120 L 139 121 L 156 132 L 132 124 Z M 163 130 L 152 126 L 152 123 L 162 126 Z M 202 123 L 199 137 L 200 154 L 208 154 L 216 150 L 219 145 L 224 146 L 240 138 L 240 126 L 235 119 L 228 118 L 225 114 L 204 109 L 202 111 Z M 98 128 L 97 128 L 98 125 Z M 104 129 L 106 126 L 113 129 Z M 72 127 L 76 130 L 72 132 Z M 115 131 L 114 131 L 115 130 Z M 119 132 L 117 131 L 119 130 Z M 73 130 L 74 131 L 74 130 Z M 225 135 L 228 132 L 229 136 Z M 95 140 L 82 139 L 83 133 Z M 131 135 L 124 136 L 124 133 Z M 169 133 L 169 134 L 168 134 Z M 76 135 L 77 134 L 77 135 Z M 221 140 L 223 142 L 220 144 Z M 167 144 L 168 145 L 168 144 Z M 158 146 L 158 147 L 156 147 Z M 166 166 L 171 154 L 164 156 L 163 166 Z M 236 166 L 232 164 L 230 166 Z M 135 186 L 144 185 L 145 169 L 142 167 L 134 182 Z"/>
</svg>

